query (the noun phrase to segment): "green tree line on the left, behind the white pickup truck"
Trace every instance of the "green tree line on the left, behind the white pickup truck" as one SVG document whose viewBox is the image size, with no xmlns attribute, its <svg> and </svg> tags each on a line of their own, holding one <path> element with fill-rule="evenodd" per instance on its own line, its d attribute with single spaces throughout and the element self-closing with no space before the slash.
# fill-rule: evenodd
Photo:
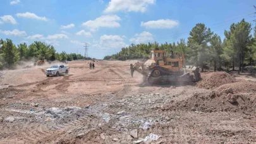
<svg viewBox="0 0 256 144">
<path fill-rule="evenodd" d="M 46 57 L 47 61 L 72 61 L 76 59 L 91 59 L 81 54 L 67 54 L 66 52 L 56 52 L 53 45 L 46 42 L 35 41 L 27 45 L 26 43 L 13 44 L 11 39 L 0 40 L 0 69 L 14 68 L 20 61 L 37 61 L 39 57 Z"/>
</svg>

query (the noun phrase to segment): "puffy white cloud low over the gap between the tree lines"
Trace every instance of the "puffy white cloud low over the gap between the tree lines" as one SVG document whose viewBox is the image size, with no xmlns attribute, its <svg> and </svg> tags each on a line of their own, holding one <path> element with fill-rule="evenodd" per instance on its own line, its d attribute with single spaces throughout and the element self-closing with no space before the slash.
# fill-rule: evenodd
<svg viewBox="0 0 256 144">
<path fill-rule="evenodd" d="M 100 49 L 118 49 L 128 46 L 119 35 L 102 35 L 100 41 L 94 41 L 94 43 L 93 47 Z"/>
</svg>

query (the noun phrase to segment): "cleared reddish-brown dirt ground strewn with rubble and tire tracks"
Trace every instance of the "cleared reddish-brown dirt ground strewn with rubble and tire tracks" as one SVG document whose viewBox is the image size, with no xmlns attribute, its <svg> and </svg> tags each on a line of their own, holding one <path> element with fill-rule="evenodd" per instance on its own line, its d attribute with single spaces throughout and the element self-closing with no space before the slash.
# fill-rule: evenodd
<svg viewBox="0 0 256 144">
<path fill-rule="evenodd" d="M 72 61 L 50 77 L 49 66 L 1 71 L 0 143 L 256 143 L 255 77 L 148 85 L 131 77 L 133 62 Z"/>
</svg>

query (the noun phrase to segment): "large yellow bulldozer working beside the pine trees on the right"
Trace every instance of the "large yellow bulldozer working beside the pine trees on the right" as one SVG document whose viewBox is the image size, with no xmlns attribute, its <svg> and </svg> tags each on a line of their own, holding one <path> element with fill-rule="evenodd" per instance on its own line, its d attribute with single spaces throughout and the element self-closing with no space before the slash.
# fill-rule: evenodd
<svg viewBox="0 0 256 144">
<path fill-rule="evenodd" d="M 170 81 L 198 81 L 199 68 L 186 66 L 185 57 L 181 52 L 174 56 L 166 56 L 166 50 L 152 50 L 150 59 L 145 63 L 130 64 L 131 76 L 134 71 L 141 73 L 149 84 L 159 84 Z"/>
</svg>

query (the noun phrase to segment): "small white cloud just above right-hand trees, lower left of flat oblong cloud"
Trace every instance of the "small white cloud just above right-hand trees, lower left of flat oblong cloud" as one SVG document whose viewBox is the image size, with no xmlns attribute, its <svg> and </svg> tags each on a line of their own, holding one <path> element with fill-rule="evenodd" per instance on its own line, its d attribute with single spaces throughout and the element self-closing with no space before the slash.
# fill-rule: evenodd
<svg viewBox="0 0 256 144">
<path fill-rule="evenodd" d="M 149 32 L 142 32 L 140 34 L 135 34 L 135 38 L 130 39 L 131 42 L 135 42 L 135 44 L 141 44 L 145 42 L 154 41 L 153 35 Z"/>
</svg>

